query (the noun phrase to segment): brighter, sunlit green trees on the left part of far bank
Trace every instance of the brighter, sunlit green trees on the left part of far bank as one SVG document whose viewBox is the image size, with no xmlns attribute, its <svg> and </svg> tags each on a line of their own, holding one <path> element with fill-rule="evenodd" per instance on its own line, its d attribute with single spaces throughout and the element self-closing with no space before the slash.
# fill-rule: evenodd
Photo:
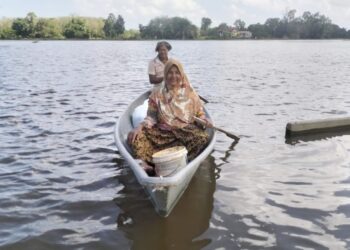
<svg viewBox="0 0 350 250">
<path fill-rule="evenodd" d="M 24 18 L 0 20 L 0 39 L 138 39 L 139 32 L 125 30 L 122 16 L 39 18 L 29 12 Z"/>
</svg>

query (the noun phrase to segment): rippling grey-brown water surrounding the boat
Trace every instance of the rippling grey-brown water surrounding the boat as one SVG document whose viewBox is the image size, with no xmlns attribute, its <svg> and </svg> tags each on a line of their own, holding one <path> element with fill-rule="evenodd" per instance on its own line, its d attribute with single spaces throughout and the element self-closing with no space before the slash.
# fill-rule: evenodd
<svg viewBox="0 0 350 250">
<path fill-rule="evenodd" d="M 224 134 L 166 219 L 114 143 L 156 41 L 0 41 L 0 249 L 350 249 L 350 41 L 170 41 Z"/>
</svg>

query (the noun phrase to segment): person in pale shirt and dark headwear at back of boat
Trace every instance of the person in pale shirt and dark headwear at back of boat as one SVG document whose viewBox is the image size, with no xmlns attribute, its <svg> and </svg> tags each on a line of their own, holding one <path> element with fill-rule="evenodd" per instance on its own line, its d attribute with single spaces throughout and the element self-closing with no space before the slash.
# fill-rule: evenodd
<svg viewBox="0 0 350 250">
<path fill-rule="evenodd" d="M 169 59 L 168 52 L 170 50 L 170 43 L 167 41 L 158 42 L 155 49 L 158 54 L 148 64 L 149 82 L 153 84 L 154 88 L 159 87 L 164 79 L 164 65 Z"/>
</svg>

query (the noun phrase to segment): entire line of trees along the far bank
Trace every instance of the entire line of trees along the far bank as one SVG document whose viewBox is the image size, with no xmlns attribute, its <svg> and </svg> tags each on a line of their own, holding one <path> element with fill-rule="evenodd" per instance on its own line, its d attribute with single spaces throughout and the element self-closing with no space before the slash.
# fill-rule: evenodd
<svg viewBox="0 0 350 250">
<path fill-rule="evenodd" d="M 237 19 L 232 24 L 212 27 L 203 17 L 197 27 L 182 17 L 156 17 L 138 30 L 126 30 L 121 15 L 106 19 L 93 17 L 39 18 L 30 12 L 24 18 L 0 19 L 0 39 L 334 39 L 350 38 L 350 30 L 341 28 L 320 14 L 309 11 L 296 16 L 287 11 L 282 18 L 268 18 L 264 24 Z"/>
</svg>

